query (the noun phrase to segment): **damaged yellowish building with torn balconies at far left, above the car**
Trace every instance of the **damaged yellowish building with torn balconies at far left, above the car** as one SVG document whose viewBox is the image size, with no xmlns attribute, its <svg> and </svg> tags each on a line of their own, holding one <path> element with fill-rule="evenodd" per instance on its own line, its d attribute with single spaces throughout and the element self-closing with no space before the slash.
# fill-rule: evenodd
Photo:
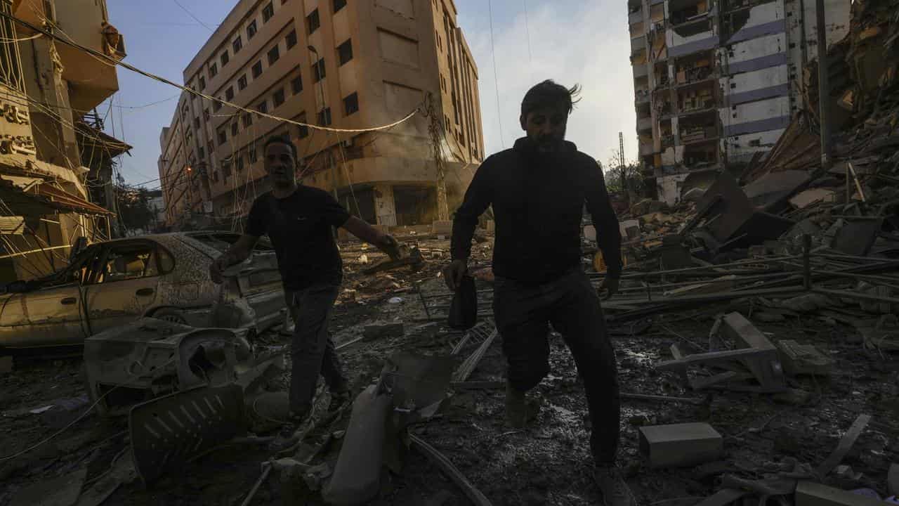
<svg viewBox="0 0 899 506">
<path fill-rule="evenodd" d="M 125 56 L 103 0 L 0 0 L 0 38 L 0 283 L 9 283 L 46 276 L 74 245 L 109 238 L 113 158 L 130 148 L 102 132 L 95 111 L 118 90 L 114 61 Z"/>
</svg>

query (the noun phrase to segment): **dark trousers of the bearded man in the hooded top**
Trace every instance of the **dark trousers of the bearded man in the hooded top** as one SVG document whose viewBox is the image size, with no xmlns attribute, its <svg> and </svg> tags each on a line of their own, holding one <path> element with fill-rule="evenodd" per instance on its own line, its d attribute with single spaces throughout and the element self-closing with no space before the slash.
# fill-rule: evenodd
<svg viewBox="0 0 899 506">
<path fill-rule="evenodd" d="M 496 277 L 494 316 L 509 383 L 522 392 L 549 372 L 549 324 L 562 334 L 587 394 L 593 458 L 597 464 L 613 464 L 619 442 L 618 370 L 600 297 L 583 271 L 543 285 Z"/>
</svg>

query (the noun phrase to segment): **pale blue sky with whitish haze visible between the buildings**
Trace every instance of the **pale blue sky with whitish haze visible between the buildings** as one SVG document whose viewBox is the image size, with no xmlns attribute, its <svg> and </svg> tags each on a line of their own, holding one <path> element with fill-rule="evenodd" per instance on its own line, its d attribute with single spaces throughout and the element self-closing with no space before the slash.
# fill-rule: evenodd
<svg viewBox="0 0 899 506">
<path fill-rule="evenodd" d="M 209 38 L 209 30 L 174 0 L 106 0 L 111 23 L 125 35 L 131 65 L 175 82 Z M 178 0 L 203 23 L 215 28 L 236 0 Z M 350 0 L 371 1 L 371 0 Z M 624 0 L 492 0 L 496 75 L 490 43 L 487 0 L 455 0 L 458 23 L 474 53 L 479 73 L 481 112 L 487 153 L 510 147 L 521 135 L 518 110 L 527 88 L 546 78 L 583 86 L 582 103 L 568 127 L 568 139 L 605 161 L 625 133 L 628 158 L 636 154 L 633 79 L 628 61 L 627 7 Z M 525 16 L 527 2 L 527 16 Z M 527 17 L 527 23 L 525 19 Z M 530 51 L 528 48 L 530 32 Z M 499 88 L 498 113 L 496 87 Z M 129 184 L 158 179 L 159 133 L 172 119 L 179 90 L 119 69 L 120 91 L 106 128 L 134 146 L 122 158 Z M 133 109 L 171 98 L 167 102 Z M 121 107 L 120 107 L 121 106 Z M 114 125 L 114 127 L 113 127 Z M 147 187 L 158 186 L 158 181 Z"/>
</svg>

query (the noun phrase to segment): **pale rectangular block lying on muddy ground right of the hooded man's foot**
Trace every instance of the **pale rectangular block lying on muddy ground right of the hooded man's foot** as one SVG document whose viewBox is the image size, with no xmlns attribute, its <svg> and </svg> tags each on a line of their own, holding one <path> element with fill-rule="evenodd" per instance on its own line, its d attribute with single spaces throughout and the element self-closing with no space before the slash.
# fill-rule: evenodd
<svg viewBox="0 0 899 506">
<path fill-rule="evenodd" d="M 640 452 L 650 467 L 682 467 L 717 460 L 724 439 L 708 423 L 674 423 L 640 428 Z"/>
</svg>

